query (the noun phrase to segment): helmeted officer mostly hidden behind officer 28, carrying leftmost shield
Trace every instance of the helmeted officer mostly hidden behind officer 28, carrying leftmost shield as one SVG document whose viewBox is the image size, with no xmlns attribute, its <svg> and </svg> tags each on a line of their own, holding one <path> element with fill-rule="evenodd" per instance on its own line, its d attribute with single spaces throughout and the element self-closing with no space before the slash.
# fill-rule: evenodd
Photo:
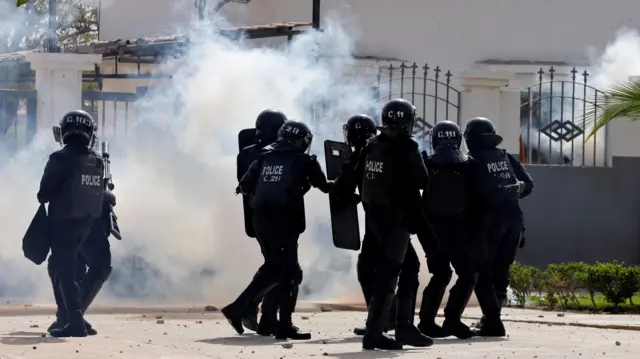
<svg viewBox="0 0 640 359">
<path fill-rule="evenodd" d="M 266 109 L 258 115 L 256 118 L 256 140 L 257 143 L 247 146 L 243 148 L 238 154 L 237 161 L 237 177 L 238 181 L 242 178 L 242 176 L 247 172 L 251 163 L 257 159 L 257 157 L 264 153 L 265 148 L 276 142 L 278 139 L 278 130 L 282 126 L 283 123 L 287 121 L 287 116 L 284 113 L 278 110 Z M 251 196 L 245 195 L 242 196 L 244 210 L 249 212 L 247 217 L 251 217 Z M 251 221 L 252 222 L 252 221 Z M 248 225 L 253 226 L 253 223 L 248 223 Z M 256 239 L 260 244 L 260 249 L 262 251 L 262 255 L 267 259 L 265 254 L 265 245 L 262 242 L 262 239 L 257 236 Z M 296 286 L 295 291 L 298 290 Z M 258 298 L 257 300 L 251 302 L 244 313 L 244 318 L 242 323 L 244 326 L 249 329 L 256 331 L 260 335 L 269 336 L 275 334 L 278 318 L 278 293 L 277 291 L 269 291 L 264 295 L 264 298 Z M 258 323 L 258 305 L 262 300 L 262 316 L 260 317 L 260 322 Z"/>
</svg>

